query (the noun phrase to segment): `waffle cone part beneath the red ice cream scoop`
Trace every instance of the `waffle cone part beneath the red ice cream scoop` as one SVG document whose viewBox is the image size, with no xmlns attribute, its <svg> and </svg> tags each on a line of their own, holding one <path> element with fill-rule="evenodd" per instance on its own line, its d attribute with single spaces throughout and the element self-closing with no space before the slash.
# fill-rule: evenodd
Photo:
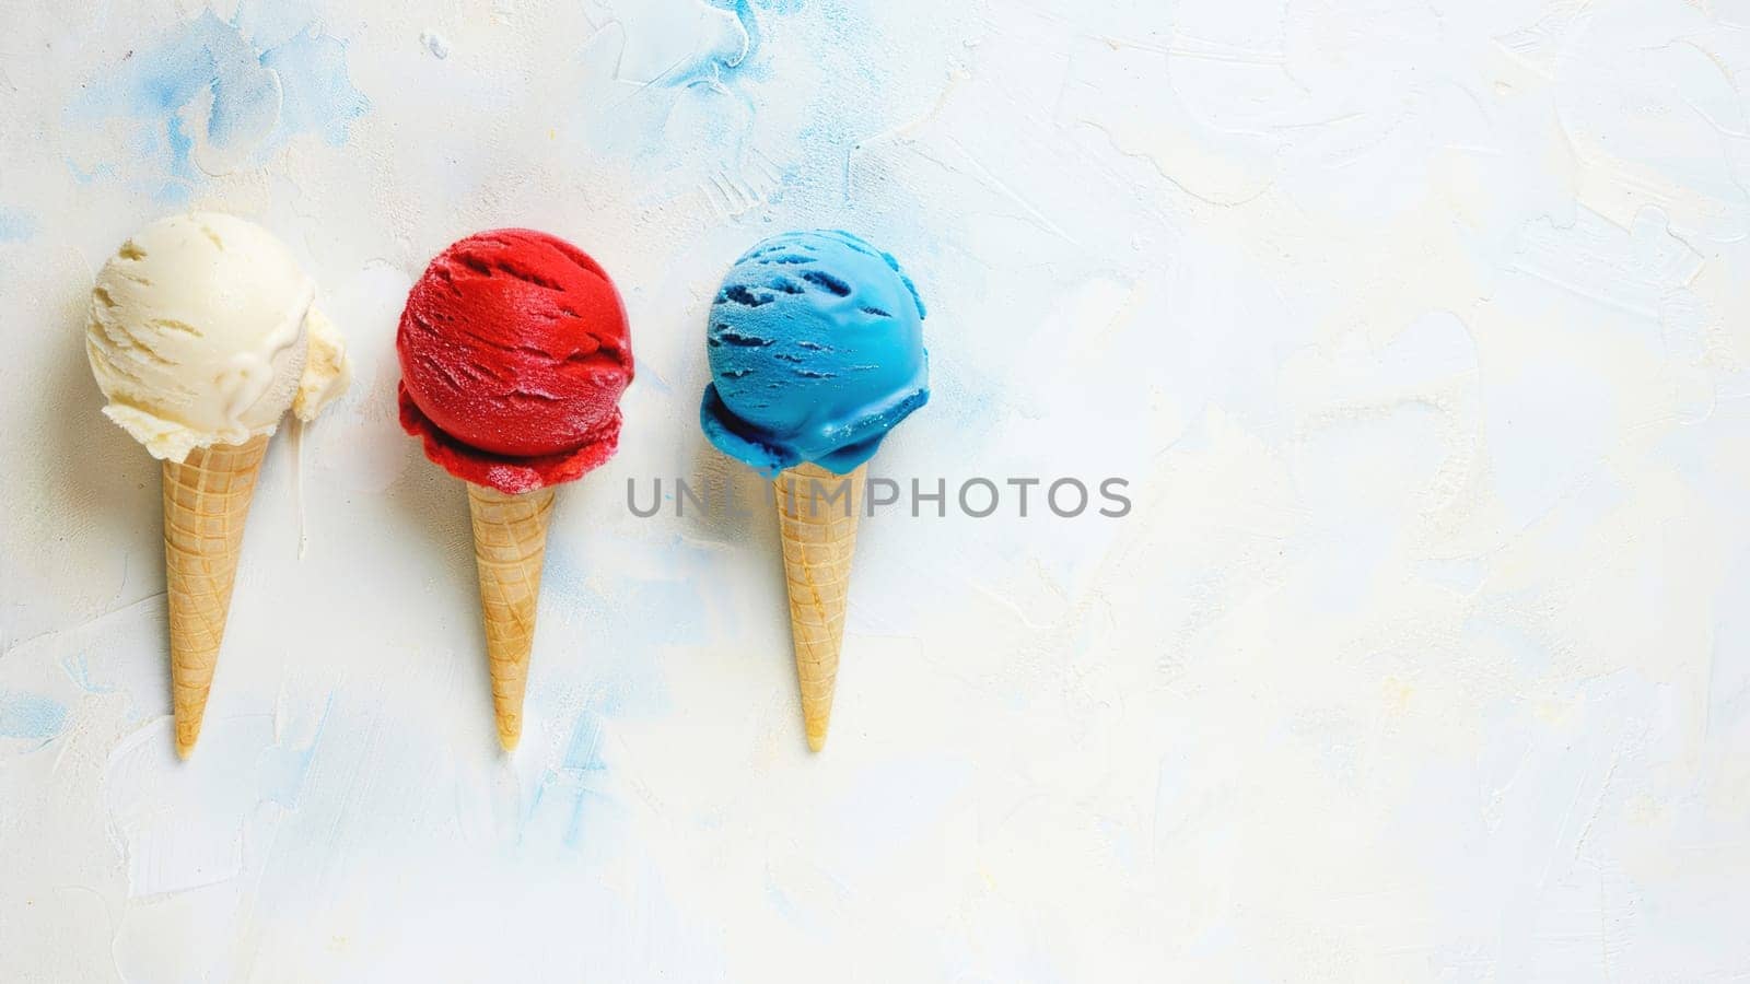
<svg viewBox="0 0 1750 984">
<path fill-rule="evenodd" d="M 523 737 L 523 693 L 528 653 L 536 641 L 541 560 L 553 515 L 553 488 L 508 496 L 467 485 L 474 517 L 474 564 L 480 567 L 480 611 L 486 622 L 486 662 L 492 671 L 492 713 L 499 744 L 516 751 Z"/>
</svg>

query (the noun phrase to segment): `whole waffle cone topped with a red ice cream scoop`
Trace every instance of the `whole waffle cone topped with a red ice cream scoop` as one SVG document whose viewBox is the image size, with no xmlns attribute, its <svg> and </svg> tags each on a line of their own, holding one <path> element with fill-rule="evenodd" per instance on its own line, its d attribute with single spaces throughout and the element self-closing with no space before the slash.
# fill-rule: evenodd
<svg viewBox="0 0 1750 984">
<path fill-rule="evenodd" d="M 467 483 L 499 742 L 514 751 L 558 485 L 620 443 L 632 382 L 625 305 L 581 249 L 532 229 L 452 243 L 396 336 L 401 425 Z"/>
</svg>

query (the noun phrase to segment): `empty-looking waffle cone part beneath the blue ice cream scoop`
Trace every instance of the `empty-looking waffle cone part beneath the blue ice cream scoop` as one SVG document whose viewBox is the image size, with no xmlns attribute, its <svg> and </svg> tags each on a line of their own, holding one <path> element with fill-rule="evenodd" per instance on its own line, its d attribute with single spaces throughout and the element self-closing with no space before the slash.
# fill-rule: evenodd
<svg viewBox="0 0 1750 984">
<path fill-rule="evenodd" d="M 777 527 L 789 590 L 789 634 L 796 648 L 796 683 L 808 748 L 821 751 L 833 718 L 838 646 L 845 637 L 850 555 L 863 515 L 863 471 L 833 474 L 803 462 L 774 480 Z"/>
</svg>

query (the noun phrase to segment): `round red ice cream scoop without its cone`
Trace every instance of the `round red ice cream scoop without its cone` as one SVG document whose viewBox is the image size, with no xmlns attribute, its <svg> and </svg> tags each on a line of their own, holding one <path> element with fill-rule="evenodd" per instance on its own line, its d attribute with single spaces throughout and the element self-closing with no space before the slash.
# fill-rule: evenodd
<svg viewBox="0 0 1750 984">
<path fill-rule="evenodd" d="M 474 233 L 408 294 L 396 336 L 401 425 L 450 474 L 506 494 L 570 481 L 620 443 L 626 310 L 581 249 Z"/>
</svg>

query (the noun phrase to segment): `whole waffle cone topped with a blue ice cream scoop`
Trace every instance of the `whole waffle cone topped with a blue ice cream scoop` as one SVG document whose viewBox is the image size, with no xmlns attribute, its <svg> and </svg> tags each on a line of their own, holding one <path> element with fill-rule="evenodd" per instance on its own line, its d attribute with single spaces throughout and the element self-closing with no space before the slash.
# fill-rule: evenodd
<svg viewBox="0 0 1750 984">
<path fill-rule="evenodd" d="M 922 326 L 900 263 L 844 231 L 760 242 L 710 305 L 700 424 L 721 452 L 774 480 L 814 751 L 831 723 L 866 462 L 929 399 Z"/>
</svg>

